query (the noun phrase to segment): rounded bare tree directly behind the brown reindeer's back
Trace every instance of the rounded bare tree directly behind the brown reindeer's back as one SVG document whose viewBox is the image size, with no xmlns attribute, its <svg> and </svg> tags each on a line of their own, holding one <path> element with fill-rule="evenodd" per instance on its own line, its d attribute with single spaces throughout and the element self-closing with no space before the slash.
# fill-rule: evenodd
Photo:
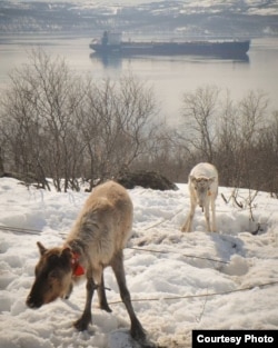
<svg viewBox="0 0 278 348">
<path fill-rule="evenodd" d="M 87 177 L 115 177 L 148 150 L 156 102 L 152 90 L 132 74 L 115 82 L 91 83 L 83 109 L 82 137 L 88 151 Z M 156 126 L 155 126 L 156 125 Z"/>
</svg>

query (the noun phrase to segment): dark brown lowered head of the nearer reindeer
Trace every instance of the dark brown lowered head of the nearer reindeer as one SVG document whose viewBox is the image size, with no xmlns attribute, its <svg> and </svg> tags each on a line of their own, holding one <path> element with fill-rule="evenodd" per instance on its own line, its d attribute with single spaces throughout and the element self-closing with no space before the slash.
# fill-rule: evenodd
<svg viewBox="0 0 278 348">
<path fill-rule="evenodd" d="M 36 266 L 36 279 L 26 301 L 30 308 L 39 308 L 58 297 L 64 297 L 71 288 L 71 250 L 46 249 L 40 242 L 37 245 L 40 260 Z"/>
</svg>

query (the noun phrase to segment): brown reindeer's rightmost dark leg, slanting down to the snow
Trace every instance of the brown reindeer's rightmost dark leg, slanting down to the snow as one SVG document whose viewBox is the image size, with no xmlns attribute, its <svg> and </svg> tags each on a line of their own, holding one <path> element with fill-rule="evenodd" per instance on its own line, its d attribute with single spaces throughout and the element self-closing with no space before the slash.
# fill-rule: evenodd
<svg viewBox="0 0 278 348">
<path fill-rule="evenodd" d="M 125 275 L 125 268 L 123 268 L 123 260 L 122 260 L 122 251 L 119 251 L 111 264 L 111 267 L 113 269 L 118 286 L 119 286 L 119 290 L 120 290 L 120 296 L 122 299 L 122 302 L 125 304 L 130 321 L 131 321 L 131 336 L 138 340 L 138 341 L 145 341 L 146 340 L 146 334 L 145 330 L 140 324 L 140 321 L 138 320 L 132 304 L 131 304 L 131 299 L 130 299 L 130 294 L 129 290 L 127 288 L 127 284 L 126 284 L 126 275 Z"/>
</svg>

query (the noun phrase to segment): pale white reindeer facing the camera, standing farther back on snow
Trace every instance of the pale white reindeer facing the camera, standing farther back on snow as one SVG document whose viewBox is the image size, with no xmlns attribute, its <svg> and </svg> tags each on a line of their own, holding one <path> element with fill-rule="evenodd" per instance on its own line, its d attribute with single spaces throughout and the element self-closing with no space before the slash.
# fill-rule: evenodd
<svg viewBox="0 0 278 348">
<path fill-rule="evenodd" d="M 190 211 L 181 228 L 183 232 L 190 232 L 192 219 L 197 205 L 205 210 L 207 230 L 216 231 L 216 198 L 218 195 L 218 172 L 210 163 L 199 163 L 195 166 L 188 177 L 188 189 L 190 193 Z M 211 206 L 212 223 L 210 226 L 209 206 Z"/>
</svg>

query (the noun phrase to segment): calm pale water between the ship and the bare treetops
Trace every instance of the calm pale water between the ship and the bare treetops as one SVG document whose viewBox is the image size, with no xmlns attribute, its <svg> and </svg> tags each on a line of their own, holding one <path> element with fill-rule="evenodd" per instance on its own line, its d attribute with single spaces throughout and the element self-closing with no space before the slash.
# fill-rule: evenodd
<svg viewBox="0 0 278 348">
<path fill-rule="evenodd" d="M 278 110 L 278 38 L 254 39 L 248 61 L 197 57 L 145 57 L 101 61 L 91 54 L 91 38 L 80 37 L 0 37 L 0 88 L 9 82 L 9 72 L 28 62 L 28 51 L 41 46 L 60 56 L 80 74 L 95 79 L 132 73 L 153 86 L 161 117 L 171 122 L 180 118 L 182 95 L 198 87 L 214 84 L 230 91 L 234 100 L 250 90 L 260 90 L 270 99 L 270 110 Z"/>
</svg>

